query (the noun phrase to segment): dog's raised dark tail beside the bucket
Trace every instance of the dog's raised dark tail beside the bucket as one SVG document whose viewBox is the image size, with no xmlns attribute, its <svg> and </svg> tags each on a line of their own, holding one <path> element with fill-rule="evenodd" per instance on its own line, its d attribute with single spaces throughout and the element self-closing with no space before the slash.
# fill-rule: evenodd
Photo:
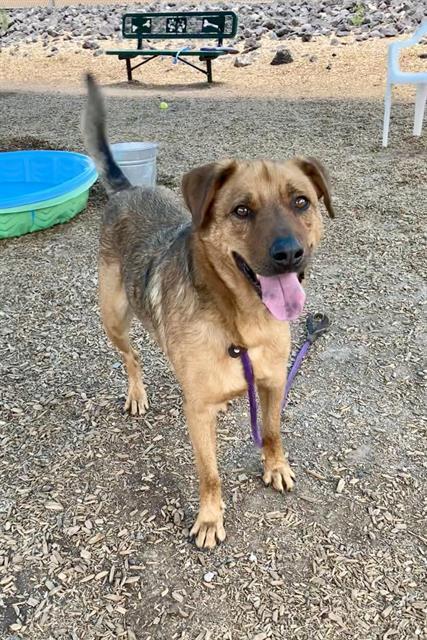
<svg viewBox="0 0 427 640">
<path fill-rule="evenodd" d="M 86 75 L 88 100 L 83 114 L 86 149 L 92 156 L 109 195 L 130 187 L 130 182 L 115 163 L 105 134 L 104 101 L 91 74 Z"/>
</svg>

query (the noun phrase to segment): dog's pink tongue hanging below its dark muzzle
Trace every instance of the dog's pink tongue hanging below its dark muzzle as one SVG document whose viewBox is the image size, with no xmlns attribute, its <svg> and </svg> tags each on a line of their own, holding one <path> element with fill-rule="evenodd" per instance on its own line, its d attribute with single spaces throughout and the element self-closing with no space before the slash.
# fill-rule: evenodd
<svg viewBox="0 0 427 640">
<path fill-rule="evenodd" d="M 296 320 L 303 310 L 305 292 L 296 273 L 258 276 L 262 301 L 277 320 Z"/>
</svg>

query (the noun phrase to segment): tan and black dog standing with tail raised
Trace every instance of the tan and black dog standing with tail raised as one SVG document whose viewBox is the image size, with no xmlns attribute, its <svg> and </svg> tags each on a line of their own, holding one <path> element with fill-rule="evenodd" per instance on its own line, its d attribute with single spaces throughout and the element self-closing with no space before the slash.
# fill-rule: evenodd
<svg viewBox="0 0 427 640">
<path fill-rule="evenodd" d="M 184 394 L 199 476 L 191 530 L 199 548 L 225 539 L 216 459 L 216 416 L 247 383 L 237 345 L 247 349 L 262 409 L 264 482 L 291 491 L 281 400 L 290 353 L 289 320 L 302 310 L 301 282 L 323 233 L 319 201 L 331 217 L 329 180 L 315 159 L 221 160 L 182 179 L 186 207 L 172 191 L 132 187 L 114 162 L 100 90 L 87 76 L 84 134 L 109 196 L 100 233 L 99 301 L 105 331 L 121 352 L 125 409 L 148 408 L 129 341 L 136 316 L 168 357 Z"/>
</svg>

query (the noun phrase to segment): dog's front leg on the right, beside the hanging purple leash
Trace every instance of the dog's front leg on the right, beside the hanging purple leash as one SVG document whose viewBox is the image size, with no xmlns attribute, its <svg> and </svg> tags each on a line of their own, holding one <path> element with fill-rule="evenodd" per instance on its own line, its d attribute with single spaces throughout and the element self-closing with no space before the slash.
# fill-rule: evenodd
<svg viewBox="0 0 427 640">
<path fill-rule="evenodd" d="M 284 386 L 258 387 L 262 407 L 264 482 L 277 491 L 292 491 L 295 474 L 283 453 L 280 413 Z"/>
</svg>

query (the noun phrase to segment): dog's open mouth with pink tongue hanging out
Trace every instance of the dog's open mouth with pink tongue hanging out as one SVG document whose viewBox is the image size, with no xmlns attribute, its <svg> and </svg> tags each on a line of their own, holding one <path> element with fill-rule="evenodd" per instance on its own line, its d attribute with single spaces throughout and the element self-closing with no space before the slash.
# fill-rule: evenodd
<svg viewBox="0 0 427 640">
<path fill-rule="evenodd" d="M 264 305 L 277 320 L 296 320 L 304 308 L 305 292 L 301 286 L 304 273 L 257 275 L 238 253 L 233 253 L 237 268 L 255 289 Z"/>
</svg>

